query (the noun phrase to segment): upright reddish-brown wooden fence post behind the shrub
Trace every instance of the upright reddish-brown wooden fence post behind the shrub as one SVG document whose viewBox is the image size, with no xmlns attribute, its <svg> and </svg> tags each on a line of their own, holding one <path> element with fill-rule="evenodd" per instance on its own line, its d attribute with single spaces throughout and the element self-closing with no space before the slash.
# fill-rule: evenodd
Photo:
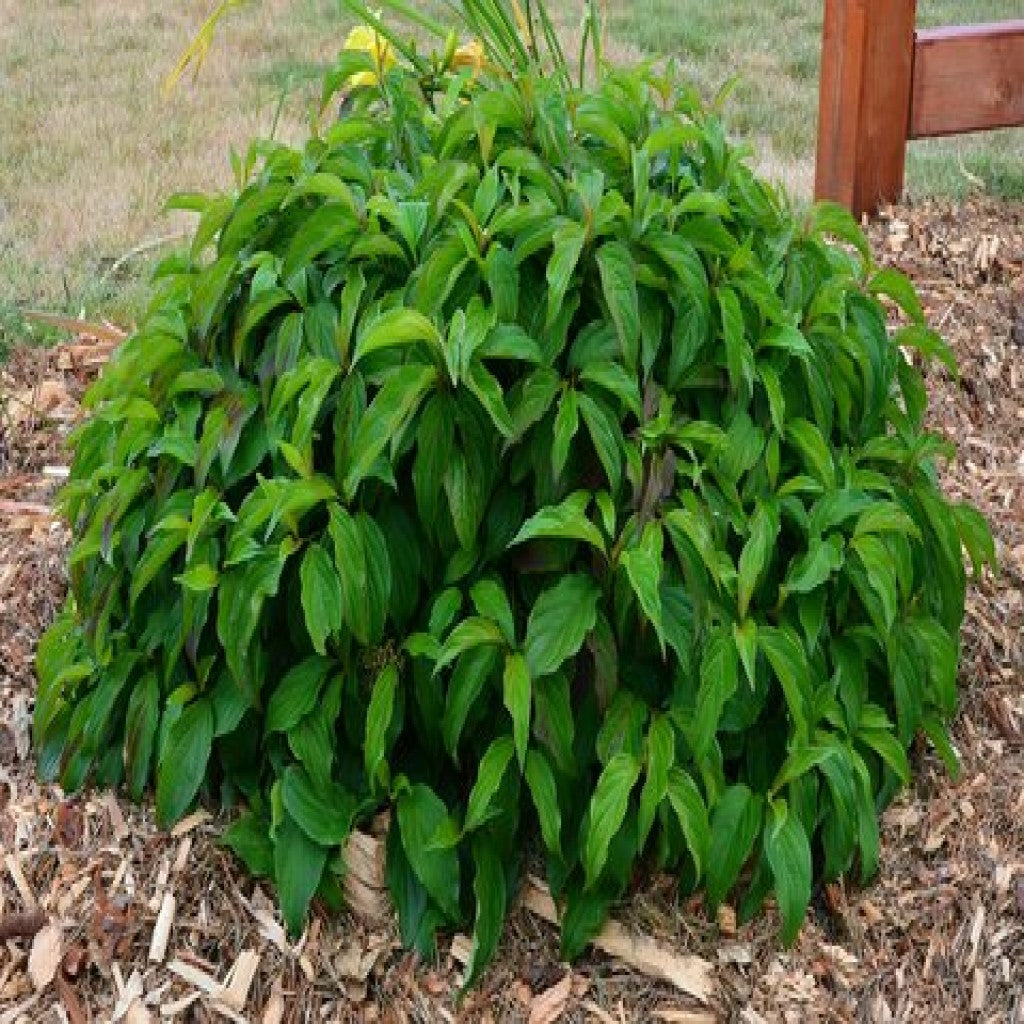
<svg viewBox="0 0 1024 1024">
<path fill-rule="evenodd" d="M 858 216 L 903 193 L 915 0 L 825 0 L 815 196 Z"/>
</svg>

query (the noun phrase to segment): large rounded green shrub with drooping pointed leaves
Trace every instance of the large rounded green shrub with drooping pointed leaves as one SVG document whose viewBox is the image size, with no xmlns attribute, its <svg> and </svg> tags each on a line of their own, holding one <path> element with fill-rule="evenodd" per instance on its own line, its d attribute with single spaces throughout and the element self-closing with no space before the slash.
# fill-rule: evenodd
<svg viewBox="0 0 1024 1024">
<path fill-rule="evenodd" d="M 901 346 L 951 356 L 673 79 L 486 41 L 177 201 L 75 438 L 40 771 L 155 780 L 165 824 L 241 801 L 293 930 L 389 807 L 402 936 L 475 915 L 474 977 L 532 833 L 566 955 L 641 859 L 774 892 L 792 940 L 812 878 L 874 871 L 914 736 L 954 764 L 962 543 L 993 553 Z"/>
</svg>

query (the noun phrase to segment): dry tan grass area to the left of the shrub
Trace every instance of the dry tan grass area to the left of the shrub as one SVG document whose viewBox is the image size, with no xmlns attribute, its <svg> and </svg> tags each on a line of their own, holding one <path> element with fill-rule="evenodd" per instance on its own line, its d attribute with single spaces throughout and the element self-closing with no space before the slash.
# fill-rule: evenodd
<svg viewBox="0 0 1024 1024">
<path fill-rule="evenodd" d="M 180 229 L 160 214 L 171 193 L 229 180 L 228 147 L 273 123 L 292 70 L 283 54 L 315 68 L 339 45 L 331 0 L 262 0 L 165 96 L 209 8 L 0 0 L 0 343 L 15 305 L 134 313 L 138 267 L 111 280 L 113 263 Z M 280 135 L 301 136 L 304 96 L 286 104 Z"/>
</svg>

